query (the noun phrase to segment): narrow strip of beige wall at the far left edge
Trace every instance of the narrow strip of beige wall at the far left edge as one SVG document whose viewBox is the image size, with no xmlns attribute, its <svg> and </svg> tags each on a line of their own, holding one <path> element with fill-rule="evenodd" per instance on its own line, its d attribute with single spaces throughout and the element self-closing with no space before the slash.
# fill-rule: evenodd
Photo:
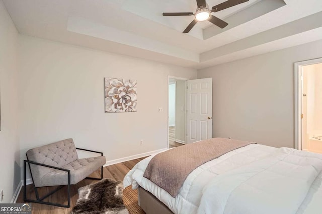
<svg viewBox="0 0 322 214">
<path fill-rule="evenodd" d="M 3 203 L 9 203 L 20 181 L 20 149 L 18 139 L 18 32 L 0 1 L 0 189 Z"/>
</svg>

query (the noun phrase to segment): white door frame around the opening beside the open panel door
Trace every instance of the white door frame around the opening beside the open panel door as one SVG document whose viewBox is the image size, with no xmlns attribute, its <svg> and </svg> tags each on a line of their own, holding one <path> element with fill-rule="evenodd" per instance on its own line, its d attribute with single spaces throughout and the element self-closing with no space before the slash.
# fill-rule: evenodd
<svg viewBox="0 0 322 214">
<path fill-rule="evenodd" d="M 187 88 L 187 81 L 189 78 L 167 76 L 167 147 L 169 149 L 169 79 L 176 79 L 185 81 L 185 87 Z M 187 110 L 187 90 L 185 90 L 185 110 Z M 185 133 L 187 133 L 187 111 L 185 111 Z M 175 136 L 176 139 L 176 136 Z M 187 144 L 187 135 L 185 135 L 185 144 Z"/>
</svg>

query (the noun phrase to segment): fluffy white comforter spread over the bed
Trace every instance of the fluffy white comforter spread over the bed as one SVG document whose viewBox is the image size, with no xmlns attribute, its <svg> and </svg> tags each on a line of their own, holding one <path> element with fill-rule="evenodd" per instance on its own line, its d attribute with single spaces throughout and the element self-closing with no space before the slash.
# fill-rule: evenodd
<svg viewBox="0 0 322 214">
<path fill-rule="evenodd" d="M 143 177 L 139 162 L 124 186 L 151 192 L 174 213 L 322 213 L 322 155 L 259 144 L 236 149 L 195 169 L 173 198 Z"/>
</svg>

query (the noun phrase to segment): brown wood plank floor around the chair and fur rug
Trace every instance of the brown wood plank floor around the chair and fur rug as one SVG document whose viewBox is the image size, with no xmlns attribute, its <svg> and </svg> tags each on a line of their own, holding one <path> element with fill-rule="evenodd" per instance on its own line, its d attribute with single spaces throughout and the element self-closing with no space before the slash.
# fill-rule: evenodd
<svg viewBox="0 0 322 214">
<path fill-rule="evenodd" d="M 146 157 L 144 157 L 146 158 Z M 127 174 L 128 171 L 130 171 L 135 164 L 137 164 L 139 161 L 143 160 L 144 158 L 138 158 L 118 164 L 114 164 L 111 166 L 103 167 L 103 175 L 104 178 L 110 178 L 112 180 L 119 180 L 123 181 L 123 178 Z M 89 177 L 100 177 L 101 170 L 98 170 L 94 172 Z M 50 213 L 50 214 L 62 214 L 62 213 L 70 213 L 72 208 L 75 206 L 77 199 L 78 199 L 78 188 L 89 185 L 91 183 L 95 183 L 98 180 L 90 180 L 90 179 L 84 179 L 81 182 L 77 183 L 76 185 L 71 185 L 71 206 L 70 208 L 62 208 L 62 207 L 56 207 L 56 206 L 49 206 L 44 204 L 37 204 L 32 203 L 32 213 Z M 40 196 L 47 194 L 48 192 L 55 189 L 55 187 L 42 187 L 38 188 L 38 192 Z M 35 199 L 35 193 L 33 190 L 32 185 L 27 186 L 27 197 Z M 67 187 L 62 188 L 55 194 L 48 197 L 48 199 L 45 199 L 44 201 L 50 201 L 55 203 L 64 203 L 67 204 Z M 24 203 L 23 201 L 23 190 L 20 191 L 17 202 L 16 203 Z"/>
</svg>

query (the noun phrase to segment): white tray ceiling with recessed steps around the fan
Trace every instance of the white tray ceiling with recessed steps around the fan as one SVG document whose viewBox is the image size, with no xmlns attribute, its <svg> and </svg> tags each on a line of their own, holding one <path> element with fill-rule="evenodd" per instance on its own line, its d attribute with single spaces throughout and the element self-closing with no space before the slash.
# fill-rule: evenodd
<svg viewBox="0 0 322 214">
<path fill-rule="evenodd" d="M 224 0 L 208 0 L 210 7 Z M 322 38 L 321 0 L 250 0 L 181 32 L 195 0 L 3 0 L 20 33 L 201 69 Z"/>
</svg>

